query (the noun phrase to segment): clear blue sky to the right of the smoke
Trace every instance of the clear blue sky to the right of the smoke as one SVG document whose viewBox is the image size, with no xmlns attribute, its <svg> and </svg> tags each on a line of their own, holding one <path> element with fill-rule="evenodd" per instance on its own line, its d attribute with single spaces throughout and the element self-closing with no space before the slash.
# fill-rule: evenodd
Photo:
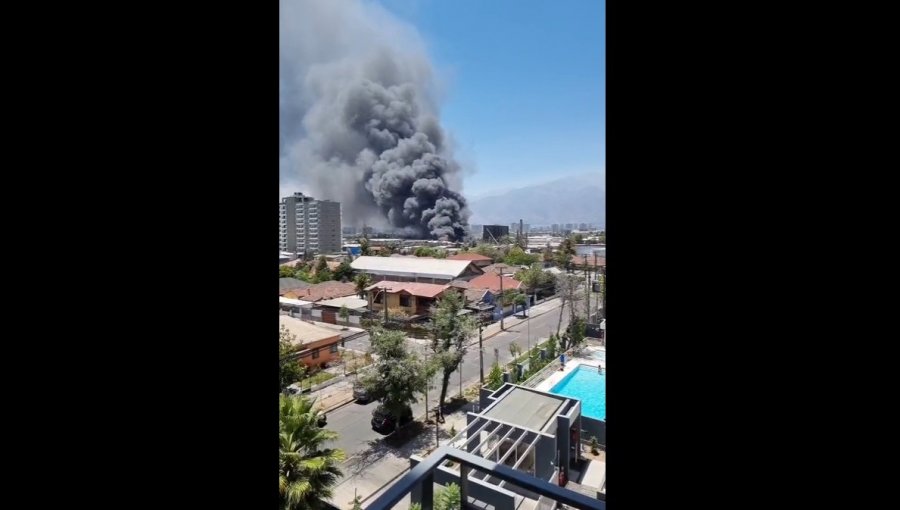
<svg viewBox="0 0 900 510">
<path fill-rule="evenodd" d="M 428 45 L 466 195 L 605 170 L 605 0 L 379 3 Z"/>
</svg>

